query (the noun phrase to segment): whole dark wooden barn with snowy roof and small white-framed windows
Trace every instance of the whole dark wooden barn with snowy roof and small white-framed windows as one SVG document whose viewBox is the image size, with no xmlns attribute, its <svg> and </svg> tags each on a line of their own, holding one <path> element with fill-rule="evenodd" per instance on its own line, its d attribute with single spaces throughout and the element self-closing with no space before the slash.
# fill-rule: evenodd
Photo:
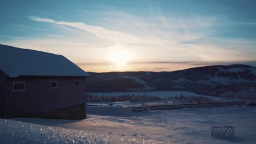
<svg viewBox="0 0 256 144">
<path fill-rule="evenodd" d="M 0 45 L 0 117 L 83 119 L 88 76 L 61 55 Z"/>
</svg>

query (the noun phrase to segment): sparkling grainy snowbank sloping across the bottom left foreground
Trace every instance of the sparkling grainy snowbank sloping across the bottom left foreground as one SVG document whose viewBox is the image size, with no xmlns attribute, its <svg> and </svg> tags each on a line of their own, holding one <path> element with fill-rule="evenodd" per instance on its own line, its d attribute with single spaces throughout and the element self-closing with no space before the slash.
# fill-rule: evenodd
<svg viewBox="0 0 256 144">
<path fill-rule="evenodd" d="M 79 130 L 72 125 L 71 127 L 66 126 L 67 123 L 71 124 L 79 121 L 37 118 L 20 120 L 26 123 L 0 118 L 0 143 L 160 143 L 155 140 L 95 133 L 91 132 L 93 130 L 89 131 L 89 129 Z M 27 123 L 28 121 L 29 123 Z"/>
</svg>

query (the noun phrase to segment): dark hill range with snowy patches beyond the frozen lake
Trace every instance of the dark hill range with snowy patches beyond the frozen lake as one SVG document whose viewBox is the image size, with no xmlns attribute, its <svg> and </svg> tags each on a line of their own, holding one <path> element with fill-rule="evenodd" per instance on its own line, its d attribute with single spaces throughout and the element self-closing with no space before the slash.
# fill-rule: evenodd
<svg viewBox="0 0 256 144">
<path fill-rule="evenodd" d="M 171 72 L 90 73 L 88 92 L 186 90 L 218 95 L 256 87 L 256 68 L 249 65 L 212 65 Z"/>
</svg>

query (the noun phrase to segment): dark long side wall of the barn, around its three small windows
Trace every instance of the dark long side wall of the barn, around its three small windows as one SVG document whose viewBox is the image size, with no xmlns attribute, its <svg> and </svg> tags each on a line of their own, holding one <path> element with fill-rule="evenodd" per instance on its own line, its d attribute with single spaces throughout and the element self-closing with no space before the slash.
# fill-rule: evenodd
<svg viewBox="0 0 256 144">
<path fill-rule="evenodd" d="M 74 87 L 74 81 L 80 81 Z M 57 81 L 57 88 L 50 88 Z M 18 77 L 8 79 L 8 117 L 33 116 L 85 103 L 85 77 Z M 25 82 L 25 91 L 13 92 L 13 82 Z M 84 108 L 85 109 L 85 108 Z"/>
</svg>

